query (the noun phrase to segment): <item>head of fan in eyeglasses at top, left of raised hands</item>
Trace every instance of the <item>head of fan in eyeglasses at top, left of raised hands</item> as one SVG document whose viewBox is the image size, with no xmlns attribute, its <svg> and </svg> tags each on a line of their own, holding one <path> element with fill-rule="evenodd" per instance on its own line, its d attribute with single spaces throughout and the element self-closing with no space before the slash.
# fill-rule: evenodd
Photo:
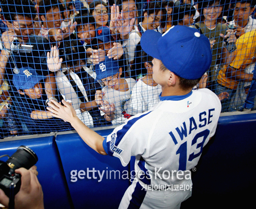
<svg viewBox="0 0 256 209">
<path fill-rule="evenodd" d="M 96 27 L 108 26 L 109 9 L 103 1 L 92 1 L 89 5 L 90 13 L 94 16 Z"/>
</svg>

